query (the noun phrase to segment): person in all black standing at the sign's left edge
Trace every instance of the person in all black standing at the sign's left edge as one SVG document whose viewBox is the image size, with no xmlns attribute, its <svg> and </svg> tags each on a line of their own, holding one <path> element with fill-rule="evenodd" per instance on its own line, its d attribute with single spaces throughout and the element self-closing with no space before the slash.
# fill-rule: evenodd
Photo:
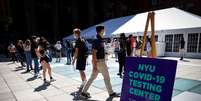
<svg viewBox="0 0 201 101">
<path fill-rule="evenodd" d="M 126 57 L 126 36 L 124 33 L 120 34 L 120 51 L 118 53 L 118 60 L 119 60 L 119 73 L 117 75 L 122 78 L 122 70 L 125 67 L 125 57 Z"/>
</svg>

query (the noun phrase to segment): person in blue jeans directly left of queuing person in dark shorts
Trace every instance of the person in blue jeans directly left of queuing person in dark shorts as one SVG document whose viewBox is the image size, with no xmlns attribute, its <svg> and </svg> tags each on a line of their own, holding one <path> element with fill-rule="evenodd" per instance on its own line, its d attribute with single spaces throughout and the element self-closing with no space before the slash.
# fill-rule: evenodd
<svg viewBox="0 0 201 101">
<path fill-rule="evenodd" d="M 32 36 L 32 40 L 31 40 L 32 44 L 31 44 L 31 56 L 32 56 L 32 59 L 34 61 L 34 77 L 35 78 L 38 78 L 39 77 L 39 62 L 38 62 L 38 55 L 39 52 L 38 52 L 38 42 L 39 42 L 39 39 L 37 39 L 36 36 Z"/>
</svg>

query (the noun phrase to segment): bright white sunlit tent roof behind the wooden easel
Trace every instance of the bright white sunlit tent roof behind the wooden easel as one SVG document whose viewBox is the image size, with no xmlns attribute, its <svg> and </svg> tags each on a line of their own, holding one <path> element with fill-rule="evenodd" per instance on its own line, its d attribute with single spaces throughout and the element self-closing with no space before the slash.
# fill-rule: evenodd
<svg viewBox="0 0 201 101">
<path fill-rule="evenodd" d="M 201 27 L 201 17 L 174 7 L 154 12 L 156 31 Z M 135 15 L 112 34 L 144 32 L 147 16 L 148 12 Z M 150 23 L 148 31 L 151 31 Z"/>
</svg>

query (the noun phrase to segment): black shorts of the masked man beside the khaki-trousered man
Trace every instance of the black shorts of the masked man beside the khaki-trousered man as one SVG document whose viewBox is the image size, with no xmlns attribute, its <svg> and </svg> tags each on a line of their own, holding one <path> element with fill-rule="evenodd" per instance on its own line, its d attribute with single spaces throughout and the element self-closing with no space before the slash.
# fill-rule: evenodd
<svg viewBox="0 0 201 101">
<path fill-rule="evenodd" d="M 86 68 L 86 59 L 77 59 L 76 69 L 85 70 Z"/>
</svg>

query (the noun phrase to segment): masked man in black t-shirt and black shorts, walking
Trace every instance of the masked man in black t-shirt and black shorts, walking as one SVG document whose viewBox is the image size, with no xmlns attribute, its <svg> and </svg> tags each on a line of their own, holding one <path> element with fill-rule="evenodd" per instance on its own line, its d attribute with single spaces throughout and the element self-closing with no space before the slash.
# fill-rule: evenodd
<svg viewBox="0 0 201 101">
<path fill-rule="evenodd" d="M 85 74 L 85 68 L 86 68 L 86 59 L 87 59 L 86 54 L 87 54 L 88 50 L 85 50 L 86 43 L 80 37 L 80 33 L 81 33 L 80 29 L 78 29 L 78 28 L 74 29 L 73 33 L 74 33 L 76 42 L 75 42 L 75 53 L 74 53 L 72 65 L 74 65 L 75 60 L 77 60 L 76 69 L 79 70 L 80 77 L 82 80 L 82 84 L 80 85 L 80 88 L 83 88 L 84 84 L 87 81 L 86 74 Z"/>
</svg>

